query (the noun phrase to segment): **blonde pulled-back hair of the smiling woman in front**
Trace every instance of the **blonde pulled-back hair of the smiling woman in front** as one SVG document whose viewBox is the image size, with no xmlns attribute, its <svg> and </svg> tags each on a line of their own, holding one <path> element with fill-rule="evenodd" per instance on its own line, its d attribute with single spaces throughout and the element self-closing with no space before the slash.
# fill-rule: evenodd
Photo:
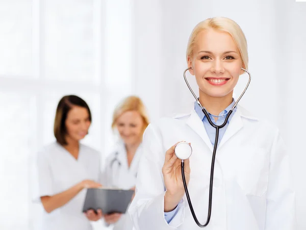
<svg viewBox="0 0 306 230">
<path fill-rule="evenodd" d="M 226 17 L 213 17 L 213 18 L 208 18 L 206 20 L 203 20 L 199 22 L 195 28 L 193 29 L 189 40 L 188 40 L 188 45 L 187 45 L 187 52 L 186 52 L 186 59 L 188 62 L 188 57 L 192 57 L 193 55 L 193 49 L 196 43 L 196 37 L 197 35 L 208 29 L 214 29 L 220 32 L 227 32 L 230 34 L 234 41 L 236 42 L 240 56 L 242 59 L 242 65 L 243 68 L 247 70 L 248 68 L 248 54 L 247 54 L 247 42 L 245 35 L 239 25 L 233 21 L 230 18 Z"/>
</svg>

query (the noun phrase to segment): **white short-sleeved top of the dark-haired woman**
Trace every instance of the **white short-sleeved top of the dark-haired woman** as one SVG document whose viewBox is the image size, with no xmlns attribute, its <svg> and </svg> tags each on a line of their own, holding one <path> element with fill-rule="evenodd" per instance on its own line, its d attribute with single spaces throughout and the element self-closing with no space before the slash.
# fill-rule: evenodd
<svg viewBox="0 0 306 230">
<path fill-rule="evenodd" d="M 80 144 L 78 160 L 57 142 L 43 148 L 37 154 L 38 191 L 35 201 L 41 196 L 61 193 L 83 180 L 99 181 L 99 153 Z M 90 230 L 90 221 L 82 212 L 86 189 L 72 198 L 66 205 L 51 213 L 43 212 L 42 230 Z"/>
</svg>

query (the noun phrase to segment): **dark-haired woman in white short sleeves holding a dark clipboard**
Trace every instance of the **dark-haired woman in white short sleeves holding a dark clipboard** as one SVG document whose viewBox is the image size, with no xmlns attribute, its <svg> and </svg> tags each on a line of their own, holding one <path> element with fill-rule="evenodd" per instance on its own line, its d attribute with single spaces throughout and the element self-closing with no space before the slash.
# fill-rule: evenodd
<svg viewBox="0 0 306 230">
<path fill-rule="evenodd" d="M 57 107 L 56 142 L 37 154 L 38 194 L 45 210 L 43 230 L 90 230 L 89 220 L 101 218 L 92 210 L 82 213 L 86 190 L 97 188 L 100 175 L 99 153 L 80 143 L 91 124 L 86 102 L 74 95 L 64 96 Z"/>
</svg>

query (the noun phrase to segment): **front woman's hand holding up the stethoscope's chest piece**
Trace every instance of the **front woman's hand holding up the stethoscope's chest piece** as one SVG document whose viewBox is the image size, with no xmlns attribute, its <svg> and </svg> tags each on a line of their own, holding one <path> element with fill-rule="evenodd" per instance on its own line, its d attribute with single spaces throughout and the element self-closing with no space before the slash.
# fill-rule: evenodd
<svg viewBox="0 0 306 230">
<path fill-rule="evenodd" d="M 165 162 L 162 168 L 164 183 L 166 186 L 166 193 L 164 197 L 165 212 L 170 212 L 174 210 L 185 194 L 184 184 L 182 180 L 182 169 L 181 169 L 182 160 L 177 158 L 174 151 L 175 147 L 179 146 L 180 143 L 186 143 L 186 142 L 176 143 L 166 151 Z M 189 159 L 186 159 L 184 163 L 185 163 L 184 167 L 185 179 L 188 185 L 190 178 Z"/>
</svg>

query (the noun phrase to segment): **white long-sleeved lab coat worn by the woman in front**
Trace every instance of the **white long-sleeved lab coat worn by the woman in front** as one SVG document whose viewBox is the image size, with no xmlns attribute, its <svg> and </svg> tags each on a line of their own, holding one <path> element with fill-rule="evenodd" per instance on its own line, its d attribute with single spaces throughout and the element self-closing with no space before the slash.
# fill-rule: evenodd
<svg viewBox="0 0 306 230">
<path fill-rule="evenodd" d="M 129 210 L 136 230 L 200 229 L 186 195 L 172 221 L 168 224 L 164 218 L 162 167 L 166 150 L 179 141 L 191 143 L 189 194 L 200 223 L 207 220 L 213 146 L 192 110 L 176 119 L 160 119 L 144 133 L 136 196 Z M 295 229 L 295 192 L 279 131 L 240 106 L 217 148 L 212 215 L 205 229 Z"/>
</svg>

